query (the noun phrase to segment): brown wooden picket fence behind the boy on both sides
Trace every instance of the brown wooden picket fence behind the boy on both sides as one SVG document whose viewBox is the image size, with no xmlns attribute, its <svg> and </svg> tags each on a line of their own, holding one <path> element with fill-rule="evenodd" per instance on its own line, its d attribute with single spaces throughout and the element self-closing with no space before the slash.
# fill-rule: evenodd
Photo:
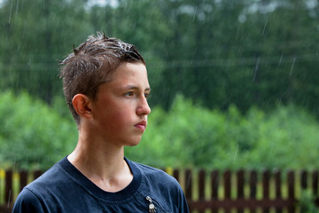
<svg viewBox="0 0 319 213">
<path fill-rule="evenodd" d="M 0 182 L 0 213 L 11 212 L 22 188 L 42 172 L 4 172 Z M 306 213 L 300 209 L 303 192 L 311 194 L 308 204 L 319 206 L 318 171 L 236 172 L 167 170 L 183 187 L 191 212 L 198 213 Z M 1 178 L 0 178 L 1 181 Z"/>
</svg>

